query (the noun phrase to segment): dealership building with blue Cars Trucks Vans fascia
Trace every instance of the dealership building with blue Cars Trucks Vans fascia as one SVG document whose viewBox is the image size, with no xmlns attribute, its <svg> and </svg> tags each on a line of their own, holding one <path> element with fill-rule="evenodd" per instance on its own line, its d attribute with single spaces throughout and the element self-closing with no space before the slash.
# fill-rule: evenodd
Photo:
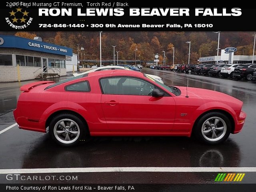
<svg viewBox="0 0 256 192">
<path fill-rule="evenodd" d="M 0 82 L 49 78 L 77 70 L 71 48 L 18 36 L 0 35 Z"/>
</svg>

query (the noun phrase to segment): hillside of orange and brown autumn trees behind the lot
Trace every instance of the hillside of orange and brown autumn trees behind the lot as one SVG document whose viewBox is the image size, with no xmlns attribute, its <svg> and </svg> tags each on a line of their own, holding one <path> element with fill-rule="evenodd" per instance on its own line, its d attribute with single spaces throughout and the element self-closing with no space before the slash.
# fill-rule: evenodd
<svg viewBox="0 0 256 192">
<path fill-rule="evenodd" d="M 0 34 L 14 35 L 14 32 Z M 234 46 L 238 48 L 235 54 L 252 55 L 252 32 L 220 32 L 220 48 Z M 33 39 L 42 37 L 43 41 L 68 46 L 77 53 L 77 45 L 84 47 L 86 59 L 99 59 L 99 32 L 16 32 L 16 36 Z M 137 46 L 137 60 L 149 61 L 153 54 L 166 53 L 167 63 L 172 63 L 172 47 L 175 47 L 176 63 L 187 62 L 188 44 L 191 41 L 191 63 L 196 63 L 200 56 L 216 55 L 218 34 L 212 32 L 102 32 L 102 60 L 113 59 L 113 47 L 119 52 L 120 60 L 135 60 Z"/>
</svg>

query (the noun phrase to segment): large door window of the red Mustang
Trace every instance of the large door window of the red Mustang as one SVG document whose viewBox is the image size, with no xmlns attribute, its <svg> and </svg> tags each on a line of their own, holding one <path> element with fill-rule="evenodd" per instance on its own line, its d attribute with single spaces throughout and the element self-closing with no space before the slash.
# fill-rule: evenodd
<svg viewBox="0 0 256 192">
<path fill-rule="evenodd" d="M 152 95 L 155 86 L 149 82 L 132 77 L 103 78 L 100 80 L 103 94 Z"/>
</svg>

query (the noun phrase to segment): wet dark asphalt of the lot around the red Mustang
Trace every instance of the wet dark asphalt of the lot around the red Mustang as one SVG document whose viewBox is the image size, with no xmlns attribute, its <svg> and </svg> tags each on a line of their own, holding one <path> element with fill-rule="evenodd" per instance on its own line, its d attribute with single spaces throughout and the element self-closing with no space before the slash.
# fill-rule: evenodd
<svg viewBox="0 0 256 192">
<path fill-rule="evenodd" d="M 143 72 L 162 77 L 166 85 L 186 84 L 185 74 L 146 68 Z M 61 77 L 64 78 L 68 77 Z M 242 100 L 243 111 L 247 113 L 242 132 L 231 134 L 226 142 L 218 146 L 204 145 L 192 138 L 183 137 L 95 137 L 79 146 L 62 148 L 56 146 L 48 134 L 19 130 L 14 126 L 0 134 L 0 169 L 256 167 L 256 81 L 237 81 L 193 74 L 188 74 L 187 79 L 188 86 L 223 92 Z M 0 83 L 0 131 L 15 123 L 12 110 L 16 108 L 19 88 L 29 82 L 32 81 Z M 215 172 L 103 172 L 61 175 L 77 175 L 78 180 L 72 183 L 212 183 L 216 177 Z M 255 172 L 246 173 L 243 183 L 256 183 L 255 176 Z M 6 174 L 0 174 L 0 183 L 31 181 L 6 180 Z"/>
</svg>

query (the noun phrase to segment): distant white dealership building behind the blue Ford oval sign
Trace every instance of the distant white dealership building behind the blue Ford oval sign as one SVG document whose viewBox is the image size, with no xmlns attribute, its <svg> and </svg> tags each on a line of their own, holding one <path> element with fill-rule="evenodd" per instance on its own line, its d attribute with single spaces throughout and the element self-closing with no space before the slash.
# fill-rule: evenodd
<svg viewBox="0 0 256 192">
<path fill-rule="evenodd" d="M 221 61 L 223 63 L 228 63 L 229 53 L 226 53 L 225 50 L 221 50 L 221 54 L 219 56 L 208 56 L 208 57 L 200 57 L 198 62 L 199 64 L 212 64 L 217 61 Z M 254 57 L 254 62 L 256 61 L 256 56 Z M 231 63 L 232 64 L 250 64 L 252 63 L 252 56 L 250 55 L 234 55 L 234 52 L 231 55 Z"/>
</svg>

